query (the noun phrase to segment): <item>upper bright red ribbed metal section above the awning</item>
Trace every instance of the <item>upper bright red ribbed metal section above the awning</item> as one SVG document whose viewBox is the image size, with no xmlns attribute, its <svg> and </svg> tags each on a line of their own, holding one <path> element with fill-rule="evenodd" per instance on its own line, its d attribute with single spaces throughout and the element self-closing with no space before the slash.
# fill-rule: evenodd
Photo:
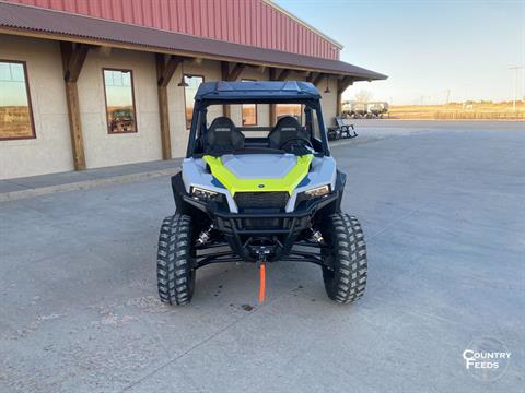
<svg viewBox="0 0 525 393">
<path fill-rule="evenodd" d="M 7 0 L 241 45 L 339 59 L 340 46 L 268 0 Z"/>
</svg>

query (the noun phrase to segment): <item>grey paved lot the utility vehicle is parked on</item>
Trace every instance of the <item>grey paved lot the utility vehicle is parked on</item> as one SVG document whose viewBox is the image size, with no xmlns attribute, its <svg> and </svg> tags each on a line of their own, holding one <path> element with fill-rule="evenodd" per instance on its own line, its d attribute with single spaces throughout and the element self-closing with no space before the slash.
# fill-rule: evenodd
<svg viewBox="0 0 525 393">
<path fill-rule="evenodd" d="M 523 392 L 523 126 L 370 121 L 335 144 L 369 247 L 353 306 L 300 263 L 270 266 L 264 306 L 247 264 L 160 303 L 165 176 L 0 203 L 0 392 Z M 483 345 L 501 372 L 466 369 Z"/>
</svg>

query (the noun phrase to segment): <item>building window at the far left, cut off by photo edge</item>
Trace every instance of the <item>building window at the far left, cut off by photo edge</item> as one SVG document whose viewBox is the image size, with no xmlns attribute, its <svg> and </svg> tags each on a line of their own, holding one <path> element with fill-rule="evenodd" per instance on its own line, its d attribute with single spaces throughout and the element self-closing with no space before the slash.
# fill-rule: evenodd
<svg viewBox="0 0 525 393">
<path fill-rule="evenodd" d="M 35 138 L 25 62 L 0 60 L 0 140 Z"/>
</svg>

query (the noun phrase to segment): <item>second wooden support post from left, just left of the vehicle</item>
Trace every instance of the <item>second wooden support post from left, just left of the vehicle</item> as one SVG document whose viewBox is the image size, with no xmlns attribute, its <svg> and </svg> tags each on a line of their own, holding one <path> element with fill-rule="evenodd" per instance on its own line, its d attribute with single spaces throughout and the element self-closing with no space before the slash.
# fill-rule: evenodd
<svg viewBox="0 0 525 393">
<path fill-rule="evenodd" d="M 170 56 L 165 60 L 163 53 L 155 55 L 156 61 L 156 84 L 159 95 L 159 116 L 161 120 L 161 144 L 162 144 L 162 159 L 172 158 L 172 141 L 170 135 L 170 109 L 167 105 L 167 85 L 172 80 L 177 67 L 184 61 L 177 56 Z"/>
</svg>

